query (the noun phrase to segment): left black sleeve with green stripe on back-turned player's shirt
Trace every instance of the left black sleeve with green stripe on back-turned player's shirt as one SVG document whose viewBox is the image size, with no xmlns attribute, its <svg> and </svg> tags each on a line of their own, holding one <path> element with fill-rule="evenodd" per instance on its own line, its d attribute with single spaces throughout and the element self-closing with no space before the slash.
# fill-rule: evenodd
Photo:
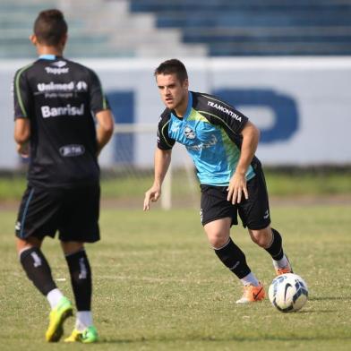
<svg viewBox="0 0 351 351">
<path fill-rule="evenodd" d="M 13 117 L 29 118 L 30 86 L 26 77 L 25 68 L 17 71 L 13 78 Z"/>
</svg>

